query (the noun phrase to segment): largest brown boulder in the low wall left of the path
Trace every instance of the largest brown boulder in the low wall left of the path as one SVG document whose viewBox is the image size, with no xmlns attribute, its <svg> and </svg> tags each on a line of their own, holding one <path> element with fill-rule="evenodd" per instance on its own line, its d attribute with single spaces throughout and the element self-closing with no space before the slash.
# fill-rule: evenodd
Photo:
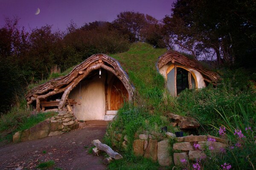
<svg viewBox="0 0 256 170">
<path fill-rule="evenodd" d="M 44 121 L 29 129 L 29 140 L 39 139 L 47 137 L 49 134 L 50 122 Z"/>
</svg>

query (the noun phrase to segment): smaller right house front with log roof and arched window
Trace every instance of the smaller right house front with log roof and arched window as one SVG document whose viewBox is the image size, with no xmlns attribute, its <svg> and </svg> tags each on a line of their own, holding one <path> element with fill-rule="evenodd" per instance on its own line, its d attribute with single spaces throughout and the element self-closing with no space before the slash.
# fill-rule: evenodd
<svg viewBox="0 0 256 170">
<path fill-rule="evenodd" d="M 168 91 L 172 96 L 177 96 L 186 88 L 204 88 L 209 83 L 216 85 L 221 79 L 215 72 L 203 68 L 198 62 L 176 51 L 168 51 L 160 56 L 156 66 L 166 79 Z"/>
</svg>

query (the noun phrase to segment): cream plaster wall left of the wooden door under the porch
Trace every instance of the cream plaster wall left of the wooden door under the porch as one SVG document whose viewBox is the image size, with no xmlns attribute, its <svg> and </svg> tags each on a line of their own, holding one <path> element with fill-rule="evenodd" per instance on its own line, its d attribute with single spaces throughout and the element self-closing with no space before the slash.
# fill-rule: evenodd
<svg viewBox="0 0 256 170">
<path fill-rule="evenodd" d="M 74 114 L 79 120 L 104 120 L 105 118 L 105 76 L 93 77 L 90 80 L 81 81 L 80 84 L 70 92 L 69 98 L 81 102 L 74 106 Z"/>
</svg>

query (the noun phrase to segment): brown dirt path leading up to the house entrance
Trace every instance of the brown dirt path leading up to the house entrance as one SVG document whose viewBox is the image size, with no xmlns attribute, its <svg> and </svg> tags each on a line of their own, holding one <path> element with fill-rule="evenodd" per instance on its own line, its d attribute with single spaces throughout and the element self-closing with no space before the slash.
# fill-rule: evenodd
<svg viewBox="0 0 256 170">
<path fill-rule="evenodd" d="M 62 170 L 105 170 L 102 156 L 88 150 L 94 139 L 102 139 L 106 126 L 86 126 L 69 133 L 0 147 L 0 170 L 35 168 L 41 161 L 53 160 Z"/>
</svg>

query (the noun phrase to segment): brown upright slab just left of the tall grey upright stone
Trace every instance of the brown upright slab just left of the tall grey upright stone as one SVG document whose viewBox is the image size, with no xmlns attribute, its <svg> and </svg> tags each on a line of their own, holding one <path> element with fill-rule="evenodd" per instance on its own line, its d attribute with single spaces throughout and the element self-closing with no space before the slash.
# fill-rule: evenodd
<svg viewBox="0 0 256 170">
<path fill-rule="evenodd" d="M 157 161 L 157 140 L 149 139 L 148 147 L 145 150 L 144 157 L 152 159 L 152 161 Z"/>
</svg>

